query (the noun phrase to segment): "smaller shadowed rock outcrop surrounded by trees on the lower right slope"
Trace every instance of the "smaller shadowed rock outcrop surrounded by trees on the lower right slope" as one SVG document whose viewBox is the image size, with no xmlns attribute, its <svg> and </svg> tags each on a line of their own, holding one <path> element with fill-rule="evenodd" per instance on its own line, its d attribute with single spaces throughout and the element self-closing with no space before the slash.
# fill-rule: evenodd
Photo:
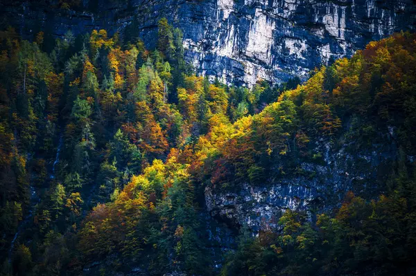
<svg viewBox="0 0 416 276">
<path fill-rule="evenodd" d="M 331 142 L 315 142 L 322 152 L 315 162 L 300 164 L 299 173 L 282 174 L 263 185 L 241 183 L 238 189 L 221 190 L 214 185 L 205 189 L 207 210 L 213 217 L 225 221 L 232 228 L 247 225 L 257 232 L 279 230 L 279 217 L 287 208 L 313 211 L 332 210 L 338 206 L 345 192 L 372 198 L 385 190 L 388 164 L 397 159 L 397 146 L 390 134 L 379 134 L 384 144 L 356 151 L 354 142 L 337 147 Z M 413 160 L 414 156 L 407 156 Z M 275 171 L 284 167 L 275 164 Z"/>
</svg>

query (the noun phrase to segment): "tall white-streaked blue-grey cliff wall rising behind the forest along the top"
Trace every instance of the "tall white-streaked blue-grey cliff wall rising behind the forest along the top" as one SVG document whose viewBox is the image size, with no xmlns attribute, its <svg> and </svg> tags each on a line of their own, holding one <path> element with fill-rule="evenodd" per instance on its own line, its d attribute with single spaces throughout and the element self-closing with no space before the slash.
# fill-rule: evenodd
<svg viewBox="0 0 416 276">
<path fill-rule="evenodd" d="M 94 6 L 95 5 L 95 6 Z M 137 22 L 148 46 L 157 20 L 167 17 L 184 31 L 187 60 L 198 73 L 251 86 L 259 79 L 305 79 L 315 66 L 350 56 L 372 40 L 413 30 L 412 0 L 130 0 L 83 1 L 77 10 L 59 10 L 42 1 L 3 1 L 1 25 L 21 35 L 49 29 L 114 33 Z M 94 8 L 89 8 L 94 6 Z"/>
</svg>

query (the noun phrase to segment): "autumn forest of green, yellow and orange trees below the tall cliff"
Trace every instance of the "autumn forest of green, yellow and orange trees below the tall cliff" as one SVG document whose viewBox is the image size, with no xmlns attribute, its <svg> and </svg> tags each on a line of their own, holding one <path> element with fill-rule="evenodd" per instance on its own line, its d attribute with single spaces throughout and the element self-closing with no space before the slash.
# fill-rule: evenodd
<svg viewBox="0 0 416 276">
<path fill-rule="evenodd" d="M 166 19 L 155 49 L 105 30 L 0 42 L 2 275 L 416 273 L 416 35 L 252 89 L 195 75 Z M 335 150 L 382 158 L 332 184 Z M 257 228 L 207 211 L 288 178 L 319 194 Z"/>
</svg>

